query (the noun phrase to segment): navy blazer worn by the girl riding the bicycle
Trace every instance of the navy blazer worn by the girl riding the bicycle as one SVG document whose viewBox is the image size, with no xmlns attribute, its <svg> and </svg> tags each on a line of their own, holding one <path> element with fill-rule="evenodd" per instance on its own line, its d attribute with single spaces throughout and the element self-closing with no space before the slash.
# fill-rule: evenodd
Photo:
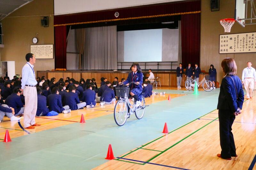
<svg viewBox="0 0 256 170">
<path fill-rule="evenodd" d="M 140 72 L 137 72 L 135 74 L 135 76 L 133 76 L 133 71 L 130 72 L 128 74 L 128 77 L 126 78 L 126 80 L 123 82 L 124 85 L 126 85 L 127 83 L 130 83 L 130 82 L 140 82 L 140 85 L 135 85 L 135 84 L 130 84 L 129 87 L 131 89 L 133 88 L 138 88 L 142 91 L 142 85 L 143 85 L 143 74 Z"/>
</svg>

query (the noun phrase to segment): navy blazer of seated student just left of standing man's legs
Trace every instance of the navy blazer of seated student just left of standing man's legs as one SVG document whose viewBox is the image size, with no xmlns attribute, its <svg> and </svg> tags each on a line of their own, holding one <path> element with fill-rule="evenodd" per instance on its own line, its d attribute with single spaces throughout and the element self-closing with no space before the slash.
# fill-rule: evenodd
<svg viewBox="0 0 256 170">
<path fill-rule="evenodd" d="M 20 108 L 23 107 L 21 98 L 16 93 L 12 93 L 10 96 L 8 96 L 4 103 L 9 107 L 14 108 L 15 114 L 19 113 Z"/>
</svg>

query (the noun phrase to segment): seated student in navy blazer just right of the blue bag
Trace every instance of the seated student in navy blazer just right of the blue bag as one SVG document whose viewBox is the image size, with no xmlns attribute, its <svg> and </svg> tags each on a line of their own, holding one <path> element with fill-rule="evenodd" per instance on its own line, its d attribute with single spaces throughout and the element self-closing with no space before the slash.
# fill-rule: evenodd
<svg viewBox="0 0 256 170">
<path fill-rule="evenodd" d="M 71 110 L 69 106 L 62 106 L 61 104 L 61 96 L 59 95 L 59 88 L 54 87 L 52 89 L 52 94 L 50 94 L 47 98 L 49 110 L 55 111 L 57 113 L 70 113 Z"/>
</svg>

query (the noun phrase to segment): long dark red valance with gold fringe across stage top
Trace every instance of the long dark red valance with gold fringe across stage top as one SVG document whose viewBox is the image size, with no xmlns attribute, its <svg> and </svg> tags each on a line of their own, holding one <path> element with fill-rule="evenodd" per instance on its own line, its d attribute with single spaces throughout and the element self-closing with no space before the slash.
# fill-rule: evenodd
<svg viewBox="0 0 256 170">
<path fill-rule="evenodd" d="M 92 11 L 67 15 L 55 15 L 54 26 L 88 24 L 95 22 L 110 22 L 120 19 L 140 19 L 144 17 L 164 17 L 169 16 L 168 14 L 181 15 L 184 13 L 195 13 L 200 11 L 200 0 L 190 2 L 144 5 L 106 11 Z M 118 18 L 115 17 L 116 12 L 119 13 Z"/>
</svg>

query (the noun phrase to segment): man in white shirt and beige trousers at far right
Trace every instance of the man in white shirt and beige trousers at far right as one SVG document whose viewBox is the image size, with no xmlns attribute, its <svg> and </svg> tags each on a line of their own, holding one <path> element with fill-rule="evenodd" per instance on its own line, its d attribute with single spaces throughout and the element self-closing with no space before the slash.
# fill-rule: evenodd
<svg viewBox="0 0 256 170">
<path fill-rule="evenodd" d="M 256 72 L 252 68 L 252 62 L 247 62 L 247 67 L 243 70 L 242 84 L 244 84 L 246 90 L 246 99 L 252 99 L 252 91 L 254 84 L 256 84 Z"/>
</svg>

